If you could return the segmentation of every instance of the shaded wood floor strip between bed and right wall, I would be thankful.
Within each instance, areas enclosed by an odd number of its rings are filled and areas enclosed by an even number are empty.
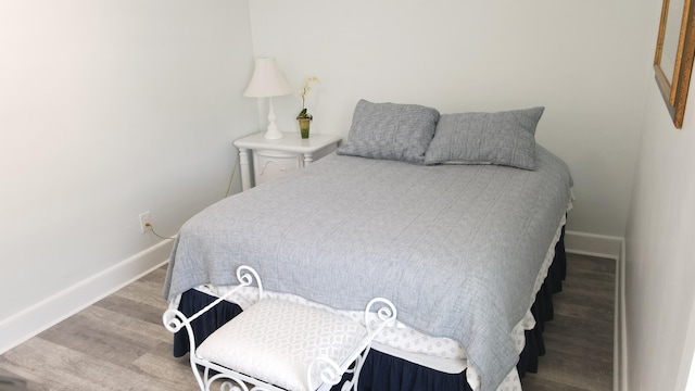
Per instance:
[[[612,390],[615,261],[568,254],[567,279],[545,324],[546,354],[525,391]]]

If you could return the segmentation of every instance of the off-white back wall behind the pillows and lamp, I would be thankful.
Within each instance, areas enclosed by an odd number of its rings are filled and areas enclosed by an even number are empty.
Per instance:
[[[538,140],[576,181],[568,228],[622,237],[653,59],[644,42],[656,38],[645,3],[254,0],[250,9],[256,55],[276,56],[296,89],[321,79],[309,96],[313,131],[346,135],[359,98],[442,113],[545,105]],[[278,124],[296,129],[299,98],[275,102]]]

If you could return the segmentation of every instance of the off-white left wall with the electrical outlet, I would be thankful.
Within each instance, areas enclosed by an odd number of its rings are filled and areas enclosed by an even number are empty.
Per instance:
[[[247,1],[3,0],[0,48],[1,325],[220,200],[257,116]]]

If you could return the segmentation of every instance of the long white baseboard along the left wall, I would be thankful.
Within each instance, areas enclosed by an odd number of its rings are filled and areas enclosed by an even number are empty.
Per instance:
[[[137,280],[168,261],[162,241],[0,321],[0,354]]]

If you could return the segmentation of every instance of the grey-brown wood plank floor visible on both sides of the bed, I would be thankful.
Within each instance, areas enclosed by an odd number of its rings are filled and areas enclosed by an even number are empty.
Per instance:
[[[522,379],[525,391],[612,389],[615,263],[568,257],[545,327],[547,353],[539,373]],[[161,323],[164,276],[156,269],[0,355],[0,374],[26,379],[28,390],[195,390]]]

